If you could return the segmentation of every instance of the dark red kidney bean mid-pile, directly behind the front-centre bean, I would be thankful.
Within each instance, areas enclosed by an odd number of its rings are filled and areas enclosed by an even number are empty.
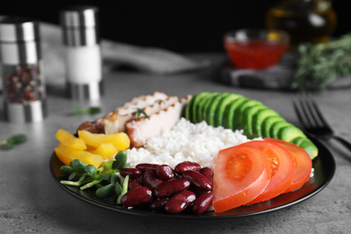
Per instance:
[[[175,193],[187,190],[190,187],[190,181],[184,178],[168,180],[158,184],[153,193],[156,197],[169,197]]]

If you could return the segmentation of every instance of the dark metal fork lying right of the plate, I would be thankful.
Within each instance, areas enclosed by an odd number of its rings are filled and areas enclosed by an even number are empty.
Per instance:
[[[351,151],[351,143],[335,135],[334,130],[320,112],[312,94],[294,95],[293,107],[307,133],[320,139],[337,139]]]

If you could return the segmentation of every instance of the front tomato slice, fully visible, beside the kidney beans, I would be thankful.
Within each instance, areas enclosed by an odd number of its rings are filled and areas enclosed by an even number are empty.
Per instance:
[[[270,166],[259,148],[238,145],[220,150],[214,166],[214,211],[252,201],[265,190],[270,177]]]

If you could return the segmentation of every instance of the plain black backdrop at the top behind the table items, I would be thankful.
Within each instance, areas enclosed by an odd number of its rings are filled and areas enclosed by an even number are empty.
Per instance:
[[[108,2],[108,3],[106,3]],[[28,16],[58,24],[67,5],[92,4],[100,10],[101,37],[175,52],[223,51],[225,31],[265,27],[265,15],[278,0],[232,1],[9,1],[0,15]],[[332,36],[351,31],[346,0],[331,1],[338,14]]]

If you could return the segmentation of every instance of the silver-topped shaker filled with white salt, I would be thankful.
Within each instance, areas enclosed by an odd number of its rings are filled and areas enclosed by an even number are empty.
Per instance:
[[[72,99],[98,100],[103,94],[98,9],[69,6],[60,13],[65,46],[67,91]]]

